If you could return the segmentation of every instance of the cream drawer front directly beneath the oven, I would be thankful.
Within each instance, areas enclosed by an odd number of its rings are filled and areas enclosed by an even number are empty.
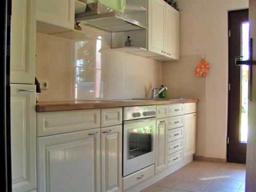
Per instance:
[[[152,176],[154,176],[155,165],[148,166],[138,172],[123,178],[123,190],[130,188]]]

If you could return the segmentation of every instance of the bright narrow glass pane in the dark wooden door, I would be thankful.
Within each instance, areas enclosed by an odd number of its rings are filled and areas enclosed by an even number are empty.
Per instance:
[[[242,56],[243,60],[249,60],[249,23],[242,24]],[[248,133],[248,86],[249,67],[241,65],[241,121],[240,142],[247,143]]]

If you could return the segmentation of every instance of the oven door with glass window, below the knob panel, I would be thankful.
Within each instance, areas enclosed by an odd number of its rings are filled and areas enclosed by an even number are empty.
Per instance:
[[[123,177],[155,163],[156,118],[123,125]]]

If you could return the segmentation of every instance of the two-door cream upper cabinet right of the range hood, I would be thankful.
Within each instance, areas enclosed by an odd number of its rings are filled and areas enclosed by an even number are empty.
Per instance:
[[[163,0],[148,1],[148,51],[156,60],[179,60],[179,11]]]

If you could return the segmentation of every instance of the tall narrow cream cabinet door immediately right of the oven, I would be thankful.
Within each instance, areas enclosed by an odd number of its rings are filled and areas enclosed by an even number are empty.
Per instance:
[[[167,167],[167,123],[167,118],[157,120],[155,165],[156,173],[161,172]]]

